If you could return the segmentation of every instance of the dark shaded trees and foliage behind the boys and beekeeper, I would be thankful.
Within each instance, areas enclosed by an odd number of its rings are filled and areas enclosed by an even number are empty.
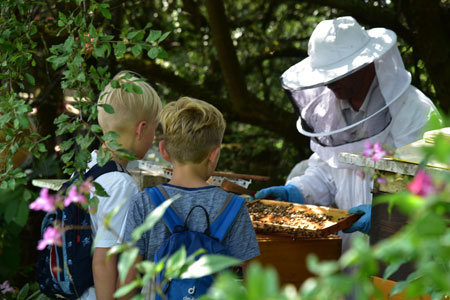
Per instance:
[[[147,56],[114,56],[87,60],[95,66],[108,65],[115,74],[138,72],[157,89],[164,102],[180,96],[205,100],[225,115],[228,127],[218,170],[267,175],[269,182],[252,184],[253,189],[283,184],[295,163],[310,155],[309,140],[296,128],[296,116],[280,87],[281,74],[307,56],[308,39],[323,19],[351,15],[366,28],[386,27],[395,31],[413,84],[445,113],[450,111],[450,1],[448,0],[142,0],[104,1],[111,20],[95,16],[96,27],[119,36],[124,27],[170,31],[161,44],[164,59]],[[61,43],[58,13],[70,15],[79,9],[65,1],[45,0],[28,16],[38,25],[36,67],[28,70],[36,79],[29,86],[37,108],[36,123],[49,151],[44,163],[35,164],[42,178],[62,176],[59,154],[54,147],[55,117],[64,111],[60,80],[64,68],[53,70],[46,59],[49,45]],[[40,216],[38,216],[40,217]],[[30,232],[39,226],[31,218],[23,232],[26,250],[21,269],[30,276],[35,240]],[[31,230],[31,231],[30,231]],[[26,240],[31,239],[32,245]],[[31,247],[31,248],[30,248]],[[28,253],[29,252],[29,253]],[[28,254],[27,254],[28,253]],[[3,253],[4,254],[4,253]],[[30,258],[31,257],[31,258]]]

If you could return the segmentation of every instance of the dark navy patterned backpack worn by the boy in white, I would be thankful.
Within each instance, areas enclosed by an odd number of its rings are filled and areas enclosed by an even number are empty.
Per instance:
[[[83,179],[93,180],[109,172],[126,172],[122,166],[109,161],[103,167],[93,166],[83,175]],[[73,176],[60,188],[66,190],[78,179]],[[42,293],[50,298],[78,299],[89,287],[94,285],[92,275],[92,229],[89,212],[70,204],[63,210],[47,213],[41,223],[41,239],[47,227],[57,220],[61,226],[76,226],[62,237],[62,247],[49,245],[38,252],[36,280]]]

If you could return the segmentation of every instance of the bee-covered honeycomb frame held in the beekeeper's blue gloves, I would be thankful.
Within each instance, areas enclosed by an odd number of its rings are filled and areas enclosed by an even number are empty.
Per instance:
[[[343,209],[274,200],[255,200],[248,211],[257,233],[325,237],[349,228],[360,215]]]

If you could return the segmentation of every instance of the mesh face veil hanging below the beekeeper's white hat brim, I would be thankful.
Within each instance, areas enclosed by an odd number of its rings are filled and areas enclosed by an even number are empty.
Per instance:
[[[298,113],[301,132],[322,146],[335,147],[375,136],[389,125],[392,116],[377,87],[375,80],[359,112],[346,100],[337,99],[327,87],[286,92]]]

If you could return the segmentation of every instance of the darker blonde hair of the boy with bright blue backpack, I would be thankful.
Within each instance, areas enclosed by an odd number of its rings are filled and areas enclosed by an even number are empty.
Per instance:
[[[222,143],[225,119],[205,101],[182,97],[167,104],[160,119],[166,150],[179,163],[200,163]]]

